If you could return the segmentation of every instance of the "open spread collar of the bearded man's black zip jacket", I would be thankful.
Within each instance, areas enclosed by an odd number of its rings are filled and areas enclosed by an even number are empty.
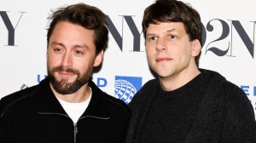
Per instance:
[[[108,108],[104,106],[105,94],[92,81],[89,81],[88,85],[92,89],[92,94],[89,106],[84,111],[82,117],[96,117],[103,119],[109,118],[110,113],[108,111]],[[61,106],[61,103],[59,102],[59,100],[56,99],[55,94],[49,87],[48,77],[46,77],[42,82],[39,83],[38,113],[67,116],[67,113]]]

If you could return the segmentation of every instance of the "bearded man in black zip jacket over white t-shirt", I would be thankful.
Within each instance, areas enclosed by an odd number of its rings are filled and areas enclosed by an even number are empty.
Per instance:
[[[106,15],[78,3],[49,19],[48,77],[0,101],[0,142],[124,142],[130,111],[90,80],[108,45]]]

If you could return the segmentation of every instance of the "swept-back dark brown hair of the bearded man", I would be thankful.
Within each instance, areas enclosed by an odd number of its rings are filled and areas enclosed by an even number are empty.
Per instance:
[[[108,47],[108,23],[106,14],[96,7],[84,3],[77,3],[66,8],[57,9],[48,19],[51,22],[47,32],[47,45],[49,45],[49,37],[54,31],[56,24],[61,21],[67,21],[95,31],[94,43],[96,45],[96,54]]]

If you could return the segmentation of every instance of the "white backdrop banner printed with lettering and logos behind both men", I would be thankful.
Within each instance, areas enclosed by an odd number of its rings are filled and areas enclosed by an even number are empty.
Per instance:
[[[201,14],[200,67],[221,73],[247,94],[256,110],[254,0],[183,0]],[[51,10],[87,3],[108,14],[109,44],[96,85],[129,103],[149,79],[141,21],[154,0],[0,0],[0,98],[47,76],[46,33]]]

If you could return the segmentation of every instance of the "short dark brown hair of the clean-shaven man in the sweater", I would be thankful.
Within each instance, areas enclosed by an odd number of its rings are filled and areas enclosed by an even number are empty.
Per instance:
[[[156,0],[148,6],[143,15],[143,35],[146,38],[149,24],[159,22],[182,22],[189,40],[198,39],[201,42],[201,17],[189,4],[177,0]],[[199,57],[195,57],[198,66]]]

